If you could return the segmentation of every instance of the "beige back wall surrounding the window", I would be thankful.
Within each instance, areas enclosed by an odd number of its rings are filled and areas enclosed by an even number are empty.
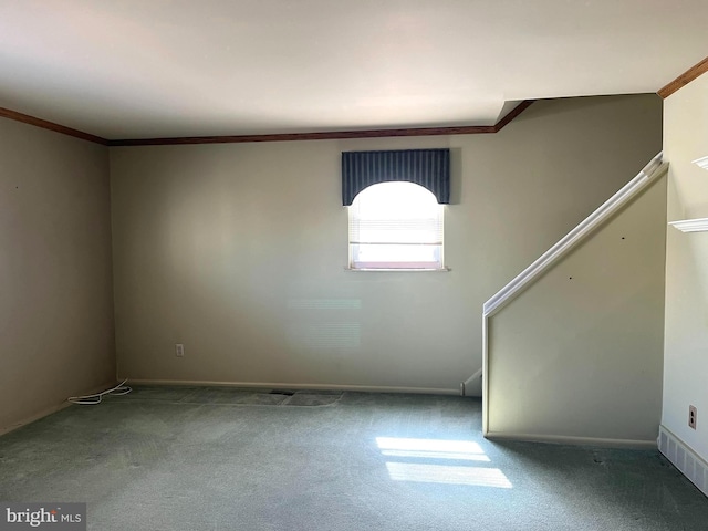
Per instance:
[[[496,135],[112,148],[118,374],[457,393],[482,303],[636,175],[660,121],[612,96]],[[420,147],[452,149],[451,271],[345,271],[340,153]]]

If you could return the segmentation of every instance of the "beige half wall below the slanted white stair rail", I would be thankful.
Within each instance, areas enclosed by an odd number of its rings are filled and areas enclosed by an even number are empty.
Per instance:
[[[666,178],[489,321],[490,437],[656,444]]]

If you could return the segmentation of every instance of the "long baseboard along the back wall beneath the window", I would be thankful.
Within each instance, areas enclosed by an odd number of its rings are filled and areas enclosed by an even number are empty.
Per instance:
[[[121,382],[125,376],[118,378]],[[133,379],[127,385],[204,385],[220,387],[246,387],[250,389],[311,389],[311,391],[362,391],[367,393],[414,393],[419,395],[459,395],[459,389],[439,387],[394,387],[381,385],[340,385],[340,384],[289,384],[273,382],[212,382],[204,379]]]

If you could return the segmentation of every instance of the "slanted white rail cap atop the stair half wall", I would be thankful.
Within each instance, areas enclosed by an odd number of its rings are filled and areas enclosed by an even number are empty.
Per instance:
[[[587,216],[587,218],[585,218],[577,227],[565,235],[565,237],[563,237],[558,243],[541,254],[535,262],[521,271],[511,282],[489,299],[483,305],[483,314],[489,316],[498,311],[510,299],[523,290],[529,282],[543,273],[553,262],[555,262],[555,260],[575,247],[575,244],[592,232],[595,227],[612,216],[632,197],[641,191],[654,179],[654,177],[663,175],[664,170],[668,167],[666,163],[662,162],[663,153],[664,152],[659,152],[658,155],[656,155],[634,179],[623,186],[620,191],[607,199],[600,208],[597,208],[597,210]]]

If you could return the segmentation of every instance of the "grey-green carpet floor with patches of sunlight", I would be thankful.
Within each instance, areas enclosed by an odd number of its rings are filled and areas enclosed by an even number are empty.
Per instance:
[[[0,437],[0,500],[88,529],[707,530],[657,451],[494,444],[456,396],[140,387]]]

